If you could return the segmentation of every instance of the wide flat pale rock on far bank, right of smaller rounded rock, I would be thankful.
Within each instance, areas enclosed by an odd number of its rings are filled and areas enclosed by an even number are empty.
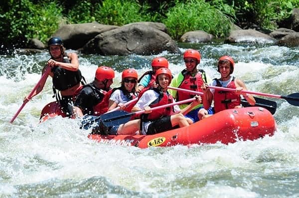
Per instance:
[[[277,40],[271,36],[256,30],[235,30],[231,31],[226,40],[227,43],[276,43]]]

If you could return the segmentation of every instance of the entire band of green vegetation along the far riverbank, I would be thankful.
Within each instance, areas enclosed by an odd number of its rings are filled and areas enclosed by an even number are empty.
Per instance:
[[[224,37],[231,23],[274,30],[294,7],[298,0],[3,0],[0,44],[22,47],[32,38],[45,43],[63,24],[93,21],[119,26],[162,22],[173,39],[193,30]]]

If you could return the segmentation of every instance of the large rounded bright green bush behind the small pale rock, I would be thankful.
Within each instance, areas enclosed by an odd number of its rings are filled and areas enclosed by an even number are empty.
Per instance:
[[[187,0],[169,9],[164,23],[170,36],[175,39],[195,30],[220,37],[229,34],[231,19],[204,0]]]

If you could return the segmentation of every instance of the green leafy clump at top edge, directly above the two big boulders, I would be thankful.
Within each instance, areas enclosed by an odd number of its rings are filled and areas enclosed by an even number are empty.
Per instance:
[[[149,21],[149,6],[141,6],[135,0],[104,0],[95,5],[94,17],[97,22],[109,25],[124,25],[137,21]]]

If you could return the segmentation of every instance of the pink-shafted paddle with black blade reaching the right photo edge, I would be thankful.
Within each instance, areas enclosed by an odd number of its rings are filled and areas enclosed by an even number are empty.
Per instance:
[[[223,91],[236,91],[236,89],[226,88],[226,87],[209,86],[209,88],[223,90]],[[250,94],[254,94],[254,95],[260,95],[260,96],[268,96],[268,97],[272,97],[272,98],[282,98],[282,99],[287,100],[287,102],[291,105],[299,106],[299,93],[292,93],[288,96],[281,96],[281,95],[275,95],[275,94],[270,94],[270,93],[261,93],[261,92],[248,91],[248,90],[244,90],[244,91],[242,90],[242,92],[250,93]]]

